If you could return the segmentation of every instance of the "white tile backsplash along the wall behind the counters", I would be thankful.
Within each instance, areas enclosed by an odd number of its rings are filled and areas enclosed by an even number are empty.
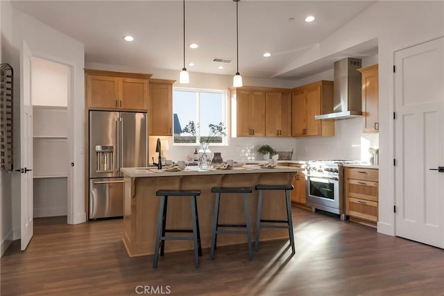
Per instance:
[[[336,121],[334,137],[309,138],[275,138],[275,137],[237,137],[229,138],[228,146],[210,146],[212,153],[220,152],[223,160],[234,159],[240,161],[262,160],[257,154],[257,148],[268,144],[277,151],[293,150],[294,160],[309,159],[353,159],[368,162],[370,153],[368,148],[378,147],[378,134],[362,133],[362,118]],[[162,142],[162,156],[173,161],[185,160],[192,157],[198,146],[174,146],[172,137],[160,137]],[[154,157],[157,137],[149,137],[149,162]]]

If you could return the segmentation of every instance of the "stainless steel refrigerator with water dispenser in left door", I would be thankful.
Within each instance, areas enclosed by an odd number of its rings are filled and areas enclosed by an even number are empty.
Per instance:
[[[147,166],[146,113],[89,112],[89,218],[123,216],[122,167]]]

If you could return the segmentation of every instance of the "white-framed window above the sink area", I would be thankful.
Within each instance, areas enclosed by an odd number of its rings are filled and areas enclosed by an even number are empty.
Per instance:
[[[226,125],[227,92],[210,89],[173,88],[173,143],[199,144],[193,134],[182,129],[193,121],[201,139],[210,136],[210,124]],[[225,134],[228,129],[225,130]],[[226,145],[226,136],[215,137],[212,145]]]

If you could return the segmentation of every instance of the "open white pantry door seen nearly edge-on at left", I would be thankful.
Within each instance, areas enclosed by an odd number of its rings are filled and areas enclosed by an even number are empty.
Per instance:
[[[33,105],[31,103],[31,51],[22,44],[20,72],[20,207],[21,248],[33,237]]]

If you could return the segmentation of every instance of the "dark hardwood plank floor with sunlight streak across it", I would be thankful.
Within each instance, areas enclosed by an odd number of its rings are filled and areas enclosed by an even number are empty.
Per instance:
[[[122,223],[35,219],[28,249],[15,241],[1,258],[1,295],[444,295],[444,250],[302,209],[296,255],[288,241],[261,243],[253,261],[246,245],[218,247],[199,269],[192,251],[157,270],[153,256],[129,258]]]

